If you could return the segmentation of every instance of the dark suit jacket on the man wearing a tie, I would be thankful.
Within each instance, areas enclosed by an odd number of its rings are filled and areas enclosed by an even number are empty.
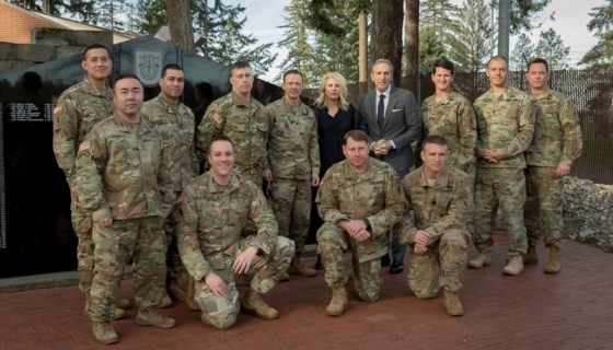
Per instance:
[[[358,107],[358,122],[369,136],[369,143],[380,139],[394,141],[395,149],[379,156],[403,178],[415,163],[410,143],[421,137],[421,118],[413,93],[392,86],[390,101],[385,109],[383,130],[377,122],[375,90],[366,93]],[[374,155],[374,153],[371,153]]]

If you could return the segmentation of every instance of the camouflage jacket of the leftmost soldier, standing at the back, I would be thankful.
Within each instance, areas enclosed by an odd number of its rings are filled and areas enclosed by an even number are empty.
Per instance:
[[[79,144],[99,121],[115,110],[113,90],[97,89],[88,78],[59,95],[54,109],[54,153],[68,185],[76,184]]]

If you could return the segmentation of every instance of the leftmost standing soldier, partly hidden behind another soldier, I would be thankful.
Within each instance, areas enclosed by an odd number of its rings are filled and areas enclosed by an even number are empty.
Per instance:
[[[83,51],[81,67],[86,71],[85,79],[62,92],[54,109],[54,153],[70,187],[72,228],[78,238],[79,289],[85,293],[84,313],[86,314],[94,271],[94,244],[92,215],[78,200],[77,150],[94,125],[109,117],[115,108],[113,91],[106,85],[106,78],[113,68],[106,46],[100,44],[88,46]],[[122,299],[117,301],[117,305],[128,307],[129,302]],[[124,314],[122,308],[117,308],[114,317],[119,319]]]

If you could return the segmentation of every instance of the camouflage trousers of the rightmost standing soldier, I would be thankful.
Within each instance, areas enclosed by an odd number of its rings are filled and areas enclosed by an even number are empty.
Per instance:
[[[528,244],[536,245],[541,233],[547,246],[562,246],[562,178],[555,167],[528,166],[525,170],[525,206],[523,220]]]

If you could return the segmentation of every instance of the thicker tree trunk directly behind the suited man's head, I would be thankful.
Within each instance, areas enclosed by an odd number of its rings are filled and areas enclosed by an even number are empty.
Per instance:
[[[394,81],[402,75],[403,0],[372,1],[373,59],[386,58],[394,66]]]

